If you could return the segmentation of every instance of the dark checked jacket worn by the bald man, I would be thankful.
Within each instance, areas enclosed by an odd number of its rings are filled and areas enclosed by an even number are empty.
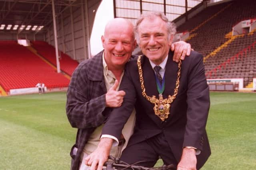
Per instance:
[[[72,147],[72,170],[78,170],[80,155],[92,132],[102,125],[110,112],[106,107],[107,92],[103,75],[102,53],[78,65],[67,92],[66,114],[72,127],[78,128]],[[78,148],[73,154],[74,147]]]

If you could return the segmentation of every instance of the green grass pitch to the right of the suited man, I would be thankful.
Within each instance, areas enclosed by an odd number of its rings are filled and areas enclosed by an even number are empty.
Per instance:
[[[256,167],[256,94],[212,92],[207,132],[212,155],[202,170]]]

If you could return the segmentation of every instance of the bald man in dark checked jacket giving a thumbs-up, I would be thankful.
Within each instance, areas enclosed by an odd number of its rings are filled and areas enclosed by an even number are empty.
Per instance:
[[[118,91],[126,63],[134,58],[136,47],[134,25],[124,18],[109,21],[102,35],[104,50],[83,61],[74,71],[67,92],[66,114],[72,127],[78,129],[76,143],[72,147],[72,170],[86,169],[84,158],[93,152],[100,141],[102,125],[112,108],[120,107],[125,95]],[[174,61],[190,54],[190,44],[178,42],[172,45]],[[120,156],[133,133],[134,111],[122,130],[122,141],[111,149],[112,156]]]

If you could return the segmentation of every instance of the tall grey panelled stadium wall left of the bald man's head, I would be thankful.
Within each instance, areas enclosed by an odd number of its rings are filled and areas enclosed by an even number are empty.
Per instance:
[[[56,18],[58,48],[81,62],[90,58],[90,34],[101,0],[78,0]],[[46,42],[55,46],[53,25],[47,30]]]

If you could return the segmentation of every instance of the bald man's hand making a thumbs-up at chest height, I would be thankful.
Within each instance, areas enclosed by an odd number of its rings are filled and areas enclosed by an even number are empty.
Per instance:
[[[116,91],[119,85],[118,80],[106,93],[106,107],[120,107],[122,105],[125,92],[123,90]]]

